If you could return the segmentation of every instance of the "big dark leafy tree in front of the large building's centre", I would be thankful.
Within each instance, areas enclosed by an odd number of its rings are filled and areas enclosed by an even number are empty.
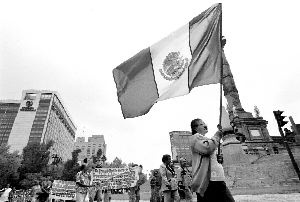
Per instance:
[[[53,141],[47,143],[31,143],[23,149],[23,160],[21,162],[20,185],[30,188],[40,176],[47,175],[47,166],[50,160],[50,148]]]

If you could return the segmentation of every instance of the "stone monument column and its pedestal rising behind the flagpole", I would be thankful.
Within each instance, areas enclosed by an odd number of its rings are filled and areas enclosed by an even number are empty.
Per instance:
[[[226,40],[222,39],[222,48],[225,44]],[[226,158],[229,158],[231,163],[249,162],[245,160],[247,158],[245,153],[273,153],[272,138],[267,130],[268,122],[262,117],[253,117],[250,112],[243,109],[224,51],[222,51],[222,59],[222,87],[227,100],[229,122],[233,127],[233,131],[227,132],[227,135],[223,138],[224,163]],[[230,157],[226,157],[228,155]]]

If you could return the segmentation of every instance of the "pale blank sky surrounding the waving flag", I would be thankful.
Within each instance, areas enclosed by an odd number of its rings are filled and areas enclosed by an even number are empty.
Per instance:
[[[123,119],[112,70],[219,2],[242,106],[254,115],[256,105],[270,135],[279,135],[273,110],[300,123],[297,1],[0,1],[0,99],[20,99],[25,89],[57,91],[77,137],[104,135],[108,161],[158,168],[171,154],[170,131],[190,130],[194,118],[207,123],[208,136],[216,131],[219,85]]]

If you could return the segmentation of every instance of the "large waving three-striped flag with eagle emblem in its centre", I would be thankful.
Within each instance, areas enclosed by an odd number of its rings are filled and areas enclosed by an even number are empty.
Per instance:
[[[113,70],[124,118],[148,113],[158,101],[220,82],[221,4]]]

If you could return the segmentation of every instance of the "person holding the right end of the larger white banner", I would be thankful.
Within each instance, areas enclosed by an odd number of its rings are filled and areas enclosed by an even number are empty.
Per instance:
[[[137,164],[133,164],[132,167],[138,166]],[[129,202],[139,202],[140,195],[140,186],[146,182],[146,175],[143,173],[143,166],[138,166],[138,175],[139,179],[134,187],[130,187],[128,190]]]

